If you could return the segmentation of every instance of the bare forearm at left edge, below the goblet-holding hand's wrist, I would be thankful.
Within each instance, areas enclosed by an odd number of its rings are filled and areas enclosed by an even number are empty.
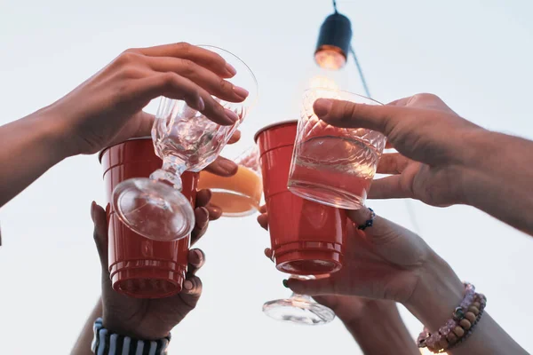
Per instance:
[[[66,155],[48,108],[0,127],[0,137],[2,207]]]

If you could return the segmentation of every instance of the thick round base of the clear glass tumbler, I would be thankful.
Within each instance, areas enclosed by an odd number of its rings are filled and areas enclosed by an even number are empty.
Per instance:
[[[289,180],[287,188],[295,195],[322,205],[336,207],[338,209],[362,209],[365,196],[348,193],[328,185],[315,184],[309,181]]]

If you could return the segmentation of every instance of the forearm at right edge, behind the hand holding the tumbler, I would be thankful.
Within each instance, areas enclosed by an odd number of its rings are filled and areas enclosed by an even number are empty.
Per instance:
[[[465,148],[465,204],[533,235],[533,142],[480,131]]]

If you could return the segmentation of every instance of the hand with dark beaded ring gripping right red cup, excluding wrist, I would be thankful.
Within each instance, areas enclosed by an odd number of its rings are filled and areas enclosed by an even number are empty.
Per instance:
[[[266,206],[258,217],[259,225],[268,228]],[[400,225],[376,217],[365,232],[363,225],[370,210],[363,208],[347,212],[354,223],[348,225],[345,263],[338,272],[316,280],[290,279],[288,285],[301,295],[349,295],[396,302],[409,300],[429,255],[433,252],[425,241]],[[272,258],[272,250],[265,249]]]

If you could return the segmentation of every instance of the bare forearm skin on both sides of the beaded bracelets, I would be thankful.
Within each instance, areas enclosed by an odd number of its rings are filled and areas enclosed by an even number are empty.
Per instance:
[[[405,304],[429,330],[438,331],[451,318],[461,303],[464,285],[446,262],[439,256],[431,256],[426,272],[420,276],[410,300]],[[449,354],[528,354],[499,327],[487,312],[464,343],[448,350]]]

